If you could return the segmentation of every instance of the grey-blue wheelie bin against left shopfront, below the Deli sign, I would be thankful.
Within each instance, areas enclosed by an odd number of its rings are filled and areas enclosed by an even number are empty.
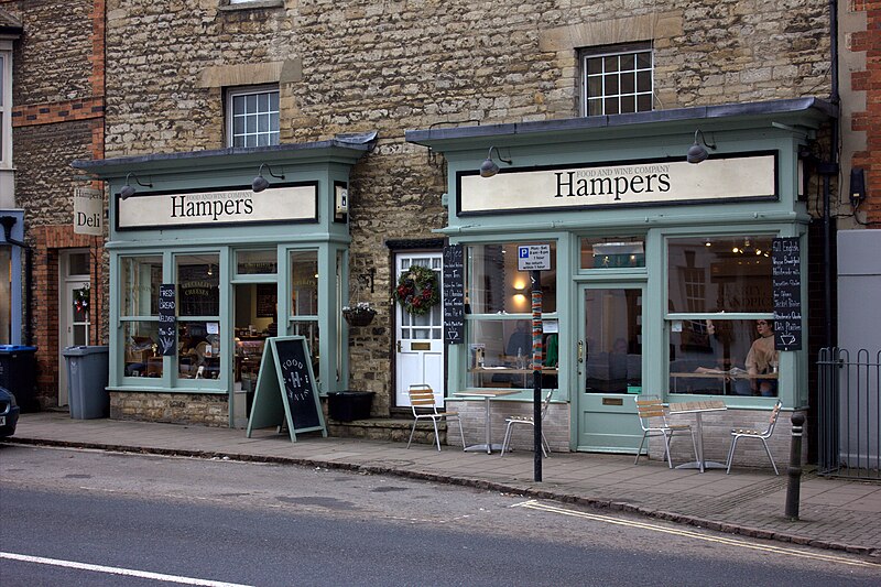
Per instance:
[[[67,402],[70,417],[94,420],[110,414],[107,347],[67,347],[62,351],[67,363]]]

